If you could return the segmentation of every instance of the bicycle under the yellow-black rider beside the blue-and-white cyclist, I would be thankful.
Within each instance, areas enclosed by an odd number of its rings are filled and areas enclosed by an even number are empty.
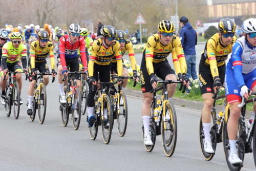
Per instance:
[[[223,87],[225,88],[225,87]],[[216,115],[216,101],[226,98],[226,94],[223,94],[219,97],[217,97],[219,94],[219,88],[217,89],[217,92],[215,93],[214,96],[212,96],[212,98],[214,99],[214,105],[212,105],[211,108],[211,129],[210,129],[210,138],[211,138],[211,143],[212,143],[212,148],[214,149],[214,153],[206,153],[204,151],[204,131],[203,131],[203,123],[202,123],[202,114],[200,117],[200,125],[199,125],[199,138],[200,138],[200,146],[201,146],[201,151],[202,154],[205,158],[205,160],[210,161],[214,155],[215,155],[215,151],[216,151],[216,146],[217,143],[222,142],[222,129],[223,129],[223,121],[225,118],[225,111],[223,112],[223,116],[220,119],[220,123],[218,124],[218,118]]]

